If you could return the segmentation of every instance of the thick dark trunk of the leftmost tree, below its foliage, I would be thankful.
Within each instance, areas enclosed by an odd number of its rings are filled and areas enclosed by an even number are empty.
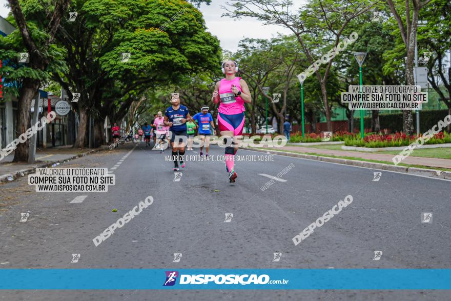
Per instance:
[[[39,81],[31,78],[24,78],[22,89],[19,93],[17,105],[17,121],[15,137],[25,133],[30,127],[31,99],[38,92]],[[37,97],[39,100],[39,95]],[[28,161],[29,143],[19,143],[14,151],[13,162]]]

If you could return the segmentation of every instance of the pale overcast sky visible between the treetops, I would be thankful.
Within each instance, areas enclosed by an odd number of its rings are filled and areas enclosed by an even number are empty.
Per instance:
[[[261,22],[254,18],[243,18],[236,21],[229,17],[221,18],[221,14],[226,12],[221,6],[226,6],[226,2],[226,0],[212,0],[210,5],[202,4],[200,6],[208,30],[219,38],[223,49],[235,52],[238,48],[238,42],[244,37],[268,39],[276,36],[277,32],[291,33],[288,29],[280,26],[263,26]],[[5,7],[6,3],[6,0],[0,0],[0,15],[2,17],[6,17],[9,13],[9,9]],[[293,3],[292,10],[297,11],[301,4],[305,3],[305,0],[293,0]]]

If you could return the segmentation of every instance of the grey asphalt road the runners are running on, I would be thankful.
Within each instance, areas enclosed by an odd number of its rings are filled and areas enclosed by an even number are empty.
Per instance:
[[[211,156],[222,154],[221,148],[210,150]],[[451,268],[449,181],[381,171],[374,182],[378,170],[239,150],[255,157],[236,162],[234,184],[216,157],[192,157],[197,160],[188,161],[174,182],[168,155],[170,150],[160,154],[129,143],[58,166],[109,168],[116,185],[107,193],[36,193],[26,177],[0,185],[0,269]],[[257,156],[273,160],[252,160]],[[292,169],[260,189],[287,166]],[[71,203],[80,195],[86,197]],[[95,236],[149,195],[151,206],[94,246]],[[296,234],[346,195],[353,196],[351,205],[294,245]],[[23,212],[27,222],[20,222]],[[433,213],[432,223],[421,223],[423,212]],[[232,220],[224,223],[228,213]],[[373,260],[374,251],[382,251],[380,260]],[[282,253],[279,262],[272,262],[274,252]],[[72,253],[80,254],[77,263],[71,263]],[[173,262],[174,253],[182,253],[180,262]],[[0,299],[444,300],[451,293],[0,291]]]

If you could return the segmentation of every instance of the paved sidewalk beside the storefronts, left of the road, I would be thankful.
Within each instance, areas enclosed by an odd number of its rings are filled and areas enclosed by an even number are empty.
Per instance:
[[[26,162],[13,163],[14,152],[0,161],[0,183],[8,182],[19,176],[24,176],[38,167],[51,166],[52,164],[64,162],[77,157],[86,156],[92,152],[108,149],[108,146],[102,146],[96,149],[73,149],[71,146],[53,147],[36,150],[36,159],[34,164]],[[11,179],[12,178],[12,179]]]

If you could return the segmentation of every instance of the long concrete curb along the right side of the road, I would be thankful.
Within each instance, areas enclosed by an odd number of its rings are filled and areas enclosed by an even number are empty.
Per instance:
[[[406,167],[406,166],[396,166],[396,165],[388,165],[388,164],[382,164],[382,163],[373,163],[373,162],[349,160],[349,159],[341,159],[341,158],[333,158],[333,157],[322,157],[322,156],[307,155],[307,154],[297,154],[297,153],[284,152],[284,151],[253,149],[253,148],[246,148],[246,147],[240,147],[240,149],[251,150],[251,151],[262,152],[262,153],[270,153],[270,154],[275,154],[275,155],[283,155],[283,156],[289,156],[289,157],[297,157],[297,158],[303,158],[303,159],[318,160],[318,161],[322,161],[322,162],[331,162],[331,163],[358,166],[358,167],[382,169],[382,170],[395,171],[395,172],[401,172],[401,173],[412,174],[412,175],[420,175],[420,176],[426,176],[426,177],[432,177],[432,178],[451,180],[451,172],[450,171],[441,171],[441,170],[435,170],[435,169],[425,169],[425,168]]]

